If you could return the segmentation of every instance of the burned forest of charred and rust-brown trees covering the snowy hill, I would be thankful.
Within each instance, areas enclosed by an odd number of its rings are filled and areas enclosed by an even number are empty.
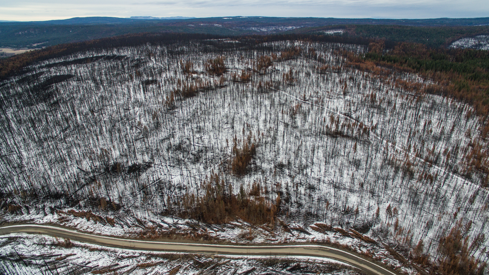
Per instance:
[[[2,222],[309,242],[400,274],[486,272],[489,96],[477,79],[400,66],[386,56],[413,46],[375,41],[109,44],[0,81]]]

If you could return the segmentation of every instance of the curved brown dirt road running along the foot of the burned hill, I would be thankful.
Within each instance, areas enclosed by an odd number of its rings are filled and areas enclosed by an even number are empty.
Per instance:
[[[10,233],[44,234],[53,237],[69,238],[74,241],[91,243],[113,248],[162,251],[208,253],[220,255],[250,255],[250,256],[310,256],[334,259],[356,267],[367,274],[397,275],[371,261],[352,253],[319,245],[212,245],[196,243],[170,243],[158,241],[143,241],[124,238],[114,238],[102,235],[92,235],[80,231],[44,225],[15,225],[0,227],[0,235]]]

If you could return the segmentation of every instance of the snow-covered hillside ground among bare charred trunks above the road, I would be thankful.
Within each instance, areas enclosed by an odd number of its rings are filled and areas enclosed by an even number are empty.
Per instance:
[[[458,219],[471,222],[472,238],[488,231],[487,178],[469,156],[474,148],[487,150],[488,141],[479,135],[484,121],[471,106],[413,90],[433,84],[418,75],[347,67],[339,51],[362,52],[362,46],[273,42],[248,49],[219,43],[77,53],[0,83],[1,203],[12,210],[2,219],[55,221],[114,235],[153,234],[148,228],[155,226],[162,236],[334,238],[359,247],[356,239],[310,227],[324,223],[356,229],[405,254],[422,239],[424,252],[435,256],[438,240]],[[232,81],[232,73],[252,69],[259,56],[280,56],[295,46],[302,48],[297,58],[275,60],[249,83]],[[308,55],[311,48],[317,60]],[[220,55],[228,68],[225,86],[203,69]],[[87,59],[93,56],[103,58]],[[185,75],[180,60],[192,61],[196,73]],[[55,75],[72,77],[45,88],[42,83]],[[171,102],[178,82],[200,80],[212,89]],[[257,154],[250,173],[237,177],[229,171],[233,139],[240,146],[247,137],[255,140]],[[198,226],[196,233],[196,221],[168,216],[178,215],[184,194],[202,192],[200,183],[212,173],[234,194],[253,183],[270,202],[280,194],[278,218],[311,235],[292,236],[278,224],[270,233],[243,221]],[[22,214],[8,205],[20,206]],[[116,224],[97,224],[96,217],[83,222],[64,214],[69,209],[91,210]],[[486,260],[489,240],[475,245],[474,255]]]

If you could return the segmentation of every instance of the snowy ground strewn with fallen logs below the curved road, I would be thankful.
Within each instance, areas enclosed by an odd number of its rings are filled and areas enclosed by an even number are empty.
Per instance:
[[[2,274],[361,274],[334,260],[314,257],[244,257],[139,252],[53,237],[0,237]]]

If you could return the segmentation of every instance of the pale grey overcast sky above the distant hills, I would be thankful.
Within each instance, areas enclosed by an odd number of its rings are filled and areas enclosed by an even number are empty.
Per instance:
[[[0,0],[0,20],[88,16],[489,17],[489,0]]]

